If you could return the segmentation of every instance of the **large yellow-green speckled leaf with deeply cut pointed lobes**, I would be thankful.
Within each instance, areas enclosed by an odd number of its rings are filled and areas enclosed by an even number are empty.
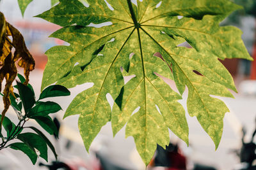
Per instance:
[[[88,4],[60,0],[37,16],[63,26],[51,37],[70,43],[46,52],[49,60],[42,89],[52,83],[72,88],[93,82],[65,113],[65,117],[80,115],[78,125],[86,149],[109,121],[114,134],[127,124],[125,134],[133,136],[145,164],[157,144],[169,144],[168,129],[188,143],[185,111],[178,103],[186,87],[189,115],[196,116],[217,148],[228,108],[211,95],[233,97],[228,89],[236,91],[232,76],[218,59],[252,60],[242,32],[219,26],[241,7],[227,0],[143,0],[137,4],[90,0]],[[184,42],[193,48],[180,46]],[[124,82],[125,76],[133,78]],[[179,93],[163,77],[175,81]],[[107,94],[115,100],[112,110]]]

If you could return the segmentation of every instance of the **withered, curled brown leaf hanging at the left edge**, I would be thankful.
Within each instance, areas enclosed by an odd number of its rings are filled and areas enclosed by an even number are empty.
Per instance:
[[[12,36],[12,41],[8,38]],[[15,48],[14,54],[12,48]],[[10,94],[13,95],[12,83],[17,76],[17,67],[15,62],[19,60],[18,65],[24,68],[26,81],[28,85],[29,72],[35,69],[35,60],[26,47],[24,38],[20,32],[11,24],[6,22],[3,13],[0,12],[0,92],[1,85],[5,78],[6,84],[3,91],[4,110],[1,113],[1,127],[6,111],[8,110],[11,101]],[[14,95],[13,95],[14,96]],[[1,129],[0,127],[0,129]]]

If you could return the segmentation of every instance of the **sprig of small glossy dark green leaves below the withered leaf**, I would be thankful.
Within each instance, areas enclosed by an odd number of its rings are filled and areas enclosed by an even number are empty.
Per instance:
[[[21,82],[25,81],[25,78],[18,74],[19,80]],[[37,155],[42,157],[47,161],[47,146],[51,148],[52,153],[54,153],[55,158],[57,159],[57,154],[52,145],[51,141],[47,139],[47,137],[40,130],[36,129],[36,127],[25,127],[25,123],[30,119],[36,120],[36,122],[49,134],[55,134],[58,136],[58,129],[54,124],[51,117],[49,117],[50,113],[56,113],[61,110],[59,104],[46,101],[42,102],[41,99],[46,97],[58,97],[58,96],[68,96],[70,92],[63,86],[60,85],[52,85],[47,87],[41,94],[38,101],[35,101],[35,93],[33,87],[31,85],[24,85],[17,81],[17,85],[14,86],[18,89],[19,94],[15,94],[16,99],[20,99],[20,103],[18,104],[15,97],[11,96],[11,103],[13,109],[16,111],[19,123],[17,125],[13,124],[13,122],[5,117],[3,120],[3,127],[6,133],[1,133],[2,143],[0,143],[0,150],[3,148],[10,147],[14,150],[20,150],[28,155],[29,159],[33,164],[36,163]],[[2,94],[3,96],[3,94]],[[22,106],[24,108],[24,112],[22,113]],[[0,115],[1,118],[1,115]],[[31,129],[33,132],[22,132],[23,129]],[[12,143],[8,145],[10,141],[13,139],[19,139],[22,143]],[[39,152],[36,152],[36,150]]]

